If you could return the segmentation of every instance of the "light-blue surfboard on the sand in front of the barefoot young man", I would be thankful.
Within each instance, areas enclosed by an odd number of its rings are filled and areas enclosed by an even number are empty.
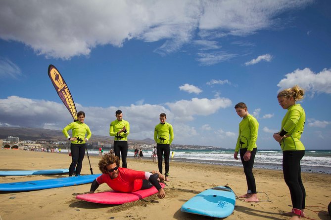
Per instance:
[[[187,201],[181,208],[182,212],[225,218],[232,214],[236,205],[236,195],[227,186],[217,186],[200,192]]]

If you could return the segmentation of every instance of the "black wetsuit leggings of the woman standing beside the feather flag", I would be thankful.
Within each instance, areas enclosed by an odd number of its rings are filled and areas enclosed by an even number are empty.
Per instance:
[[[85,150],[86,150],[85,144],[80,144],[80,145],[72,144],[72,143],[70,144],[72,162],[69,167],[69,176],[72,176],[72,174],[75,171],[75,168],[76,168],[76,175],[81,174],[83,159],[85,156]]]

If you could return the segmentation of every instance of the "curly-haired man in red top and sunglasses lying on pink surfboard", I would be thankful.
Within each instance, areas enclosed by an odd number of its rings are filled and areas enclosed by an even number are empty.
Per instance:
[[[107,183],[110,188],[118,192],[135,192],[140,189],[148,189],[153,185],[159,191],[157,196],[160,199],[165,197],[165,192],[158,179],[164,181],[164,177],[158,171],[144,172],[120,167],[120,160],[117,156],[106,154],[99,161],[99,169],[102,173],[97,177],[89,193],[94,193],[102,183]]]

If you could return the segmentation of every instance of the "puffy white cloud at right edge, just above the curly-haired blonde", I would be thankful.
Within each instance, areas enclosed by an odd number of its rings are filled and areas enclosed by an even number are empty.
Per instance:
[[[277,86],[280,90],[299,85],[306,92],[331,94],[331,69],[324,69],[320,73],[314,73],[309,68],[295,70],[287,73],[286,78],[282,79]]]

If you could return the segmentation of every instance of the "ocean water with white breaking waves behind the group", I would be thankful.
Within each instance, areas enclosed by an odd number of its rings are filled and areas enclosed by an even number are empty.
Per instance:
[[[228,166],[242,166],[241,161],[233,157],[234,150],[174,150],[176,161],[195,163],[219,164]],[[90,150],[89,150],[90,153]],[[92,150],[97,155],[98,151]],[[144,159],[151,158],[151,149],[143,150]],[[170,152],[171,155],[171,152]],[[134,156],[134,150],[129,150],[129,157]],[[282,150],[257,150],[254,168],[282,170]],[[331,150],[306,150],[301,160],[301,171],[331,174]]]

